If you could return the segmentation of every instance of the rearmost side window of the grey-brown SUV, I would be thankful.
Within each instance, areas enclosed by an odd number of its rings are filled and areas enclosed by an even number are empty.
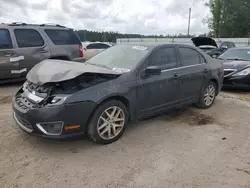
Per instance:
[[[80,44],[73,30],[45,29],[45,32],[55,45]]]

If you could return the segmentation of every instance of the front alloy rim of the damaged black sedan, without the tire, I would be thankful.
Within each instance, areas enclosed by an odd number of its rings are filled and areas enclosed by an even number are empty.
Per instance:
[[[107,108],[99,117],[97,132],[102,139],[111,140],[119,135],[124,124],[124,111],[117,106],[112,106]]]

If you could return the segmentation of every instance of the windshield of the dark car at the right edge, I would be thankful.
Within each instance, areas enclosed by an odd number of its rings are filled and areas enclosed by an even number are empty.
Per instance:
[[[250,60],[250,49],[232,48],[221,54],[219,59],[225,60]]]

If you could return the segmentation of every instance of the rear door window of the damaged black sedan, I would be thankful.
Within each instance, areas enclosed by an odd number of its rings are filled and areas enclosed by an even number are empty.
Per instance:
[[[196,50],[180,47],[179,52],[182,66],[197,65],[201,63],[201,55]]]

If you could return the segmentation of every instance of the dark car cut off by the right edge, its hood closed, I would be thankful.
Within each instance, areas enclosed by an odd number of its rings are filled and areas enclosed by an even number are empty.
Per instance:
[[[224,62],[224,87],[250,88],[250,48],[228,49],[218,59]]]

